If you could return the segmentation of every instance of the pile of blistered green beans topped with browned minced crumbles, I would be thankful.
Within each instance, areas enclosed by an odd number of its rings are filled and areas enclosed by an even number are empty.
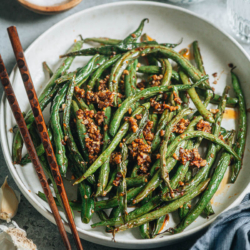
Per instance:
[[[231,72],[236,97],[228,96],[228,87],[221,96],[214,93],[198,42],[192,44],[192,64],[176,51],[181,42],[159,44],[142,35],[146,21],[123,40],[81,39],[61,56],[66,59],[55,73],[44,63],[51,78],[39,97],[42,110],[51,104],[47,127],[61,174],[71,174],[72,184],[77,185],[72,210],[80,212],[85,224],[96,213],[100,221],[91,227],[104,226],[113,235],[139,227],[143,239],[161,233],[170,212],[179,210],[180,217],[170,233],[183,231],[201,213],[214,213],[210,200],[230,162],[231,181],[239,174],[247,128],[236,74]],[[98,47],[81,49],[85,42]],[[83,67],[66,72],[76,56],[92,57]],[[217,108],[207,108],[210,103]],[[221,127],[226,107],[239,108],[237,134]],[[33,121],[29,111],[26,123],[51,179]],[[204,159],[197,153],[203,140],[207,141]],[[19,131],[12,148],[13,162],[30,162],[27,154],[21,157]],[[43,193],[38,196],[46,200]],[[197,202],[191,207],[194,198]],[[110,215],[105,209],[112,209]]]

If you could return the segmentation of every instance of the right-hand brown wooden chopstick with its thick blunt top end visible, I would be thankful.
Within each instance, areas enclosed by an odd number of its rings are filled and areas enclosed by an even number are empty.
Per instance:
[[[17,66],[20,70],[22,80],[23,80],[23,83],[24,83],[24,86],[25,86],[25,89],[26,89],[26,92],[27,92],[27,95],[29,98],[29,102],[30,102],[30,105],[31,105],[31,108],[32,108],[32,111],[33,111],[33,114],[35,117],[36,125],[37,125],[38,131],[40,133],[40,137],[41,137],[41,140],[42,140],[42,143],[43,143],[46,155],[47,155],[47,159],[48,159],[48,162],[49,162],[49,165],[51,168],[51,172],[52,172],[52,175],[53,175],[54,180],[56,182],[60,197],[62,199],[64,211],[66,213],[71,232],[74,236],[74,240],[75,240],[77,249],[83,250],[80,237],[79,237],[78,232],[76,230],[74,218],[73,218],[73,215],[71,213],[67,194],[65,192],[65,188],[63,185],[63,180],[62,180],[62,177],[61,177],[61,174],[59,171],[59,167],[57,165],[54,150],[53,150],[51,141],[49,139],[47,127],[46,127],[46,124],[44,122],[43,114],[42,114],[42,111],[41,111],[41,108],[39,105],[36,91],[35,91],[31,76],[30,76],[28,65],[27,65],[25,57],[24,57],[24,52],[23,52],[21,42],[19,40],[17,29],[15,26],[11,26],[7,30],[8,30],[11,44],[13,47],[13,51],[14,51],[14,54],[16,57]]]

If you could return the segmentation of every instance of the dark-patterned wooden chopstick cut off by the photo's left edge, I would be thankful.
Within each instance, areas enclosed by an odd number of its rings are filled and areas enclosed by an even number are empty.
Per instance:
[[[57,209],[54,197],[51,193],[51,190],[50,190],[49,184],[47,182],[47,178],[44,174],[43,168],[42,168],[40,161],[38,159],[34,144],[33,144],[32,139],[30,137],[25,120],[23,118],[22,111],[21,111],[19,104],[17,102],[14,90],[11,86],[9,76],[8,76],[7,71],[6,71],[6,68],[5,68],[5,65],[4,65],[4,62],[2,60],[1,55],[0,55],[0,78],[1,78],[1,82],[3,85],[7,100],[10,104],[11,110],[13,112],[15,119],[16,119],[17,125],[18,125],[19,130],[21,132],[21,135],[23,137],[24,143],[25,143],[26,148],[29,152],[30,159],[31,159],[33,165],[35,166],[35,170],[36,170],[37,176],[39,178],[39,181],[41,183],[41,186],[43,188],[43,192],[46,195],[49,206],[50,206],[51,211],[54,215],[54,218],[55,218],[56,224],[58,226],[59,232],[62,236],[64,245],[65,245],[66,249],[71,249],[69,239],[68,239],[67,233],[65,231],[61,216],[60,216],[59,211]]]

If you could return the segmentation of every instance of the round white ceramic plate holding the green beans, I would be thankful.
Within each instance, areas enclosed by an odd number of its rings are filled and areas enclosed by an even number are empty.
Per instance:
[[[158,42],[177,42],[183,37],[183,43],[177,48],[179,50],[187,47],[194,40],[199,41],[207,73],[211,76],[214,72],[218,72],[218,75],[220,75],[217,85],[214,85],[217,93],[222,92],[225,84],[231,84],[228,63],[232,62],[237,65],[235,72],[240,77],[245,95],[250,94],[248,83],[250,79],[249,58],[234,39],[228,37],[211,23],[181,8],[155,2],[137,1],[107,4],[81,11],[61,21],[40,36],[25,53],[37,92],[41,92],[42,86],[47,81],[42,62],[47,61],[55,69],[58,65],[58,56],[68,50],[77,35],[82,34],[84,37],[107,36],[122,39],[133,31],[145,17],[149,18],[150,22],[145,25],[144,31]],[[83,65],[83,61],[86,62],[86,60],[87,58],[83,57],[76,58],[72,68]],[[29,107],[28,99],[20,74],[16,69],[13,70],[11,79],[22,110],[27,110]],[[211,81],[212,79],[211,76]],[[249,99],[246,101],[247,107],[250,107]],[[36,196],[36,193],[42,189],[32,165],[21,167],[12,164],[13,134],[8,130],[15,124],[15,121],[4,97],[1,104],[1,143],[9,170],[30,203],[43,216],[54,223],[53,216],[48,212],[48,205]],[[223,126],[228,129],[234,128],[235,120],[225,119]],[[216,214],[209,219],[199,217],[183,233],[177,235],[141,240],[138,229],[133,229],[118,233],[116,242],[113,242],[111,235],[104,232],[104,228],[91,229],[89,225],[82,224],[79,213],[76,212],[75,221],[80,236],[88,241],[106,246],[152,248],[171,244],[198,232],[211,223],[219,213],[239,204],[246,194],[250,181],[250,168],[246,164],[250,161],[249,140],[248,137],[244,165],[237,182],[231,185],[226,183],[227,177],[224,179],[224,185],[220,187],[213,201]],[[94,216],[92,222],[97,221],[98,218]],[[173,226],[176,222],[178,222],[176,217],[171,217],[168,226]]]

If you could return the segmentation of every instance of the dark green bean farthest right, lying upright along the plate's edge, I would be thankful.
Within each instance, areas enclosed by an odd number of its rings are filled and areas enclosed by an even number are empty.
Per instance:
[[[235,152],[241,158],[240,161],[235,162],[232,165],[232,174],[231,174],[231,182],[235,182],[242,165],[242,157],[245,150],[246,144],[246,133],[247,133],[247,111],[246,111],[246,102],[243,95],[243,91],[240,86],[240,82],[236,74],[231,72],[232,84],[234,88],[234,92],[239,99],[239,129],[236,138],[236,144],[234,146]]]

